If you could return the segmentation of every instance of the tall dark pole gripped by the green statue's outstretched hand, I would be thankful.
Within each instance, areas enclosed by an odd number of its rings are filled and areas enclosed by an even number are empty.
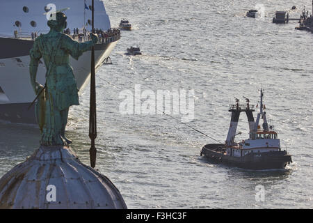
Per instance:
[[[92,5],[92,28],[95,33],[95,8],[94,0]],[[97,138],[97,116],[96,116],[96,91],[95,91],[95,47],[91,48],[91,70],[90,70],[90,113],[89,113],[89,138],[91,139],[90,166],[95,168],[97,149],[95,148],[95,138]]]

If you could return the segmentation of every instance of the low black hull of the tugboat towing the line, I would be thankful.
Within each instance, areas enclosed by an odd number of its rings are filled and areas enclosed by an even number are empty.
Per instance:
[[[264,153],[248,153],[243,157],[234,157],[225,154],[225,144],[207,144],[203,146],[201,155],[207,159],[243,169],[284,169],[292,162],[287,151],[272,151]]]

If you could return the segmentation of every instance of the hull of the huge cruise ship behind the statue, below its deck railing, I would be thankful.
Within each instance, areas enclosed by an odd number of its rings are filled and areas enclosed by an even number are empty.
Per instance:
[[[3,41],[4,38],[0,38]],[[7,41],[12,39],[6,39]],[[21,46],[26,43],[31,47],[33,41],[23,41]],[[31,42],[31,43],[30,43]],[[118,40],[113,43],[102,43],[95,47],[95,68],[102,65],[104,59],[108,57]],[[9,47],[9,46],[8,46]],[[11,52],[12,53],[12,52]],[[84,53],[78,61],[70,59],[70,64],[77,79],[77,88],[81,92],[90,79],[90,51]],[[15,123],[36,123],[34,107],[28,109],[35,98],[35,93],[30,82],[29,62],[30,56],[14,56],[3,58],[0,55],[0,119]],[[40,84],[45,84],[45,65],[40,63],[38,66],[37,80]]]

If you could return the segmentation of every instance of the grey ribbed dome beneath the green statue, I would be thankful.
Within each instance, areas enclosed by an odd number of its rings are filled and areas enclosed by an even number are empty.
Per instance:
[[[40,146],[0,179],[0,208],[127,208],[109,178],[70,147]]]

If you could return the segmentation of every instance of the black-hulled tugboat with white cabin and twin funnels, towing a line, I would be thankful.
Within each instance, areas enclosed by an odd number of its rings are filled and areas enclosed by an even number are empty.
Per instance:
[[[239,105],[239,99],[236,98],[236,104],[230,105],[229,111],[232,112],[232,118],[225,144],[207,144],[203,146],[200,155],[204,155],[209,160],[243,169],[284,169],[287,164],[290,164],[291,155],[281,150],[277,132],[274,131],[272,125],[268,126],[266,121],[263,95],[264,92],[261,89],[260,109],[256,121],[252,114],[255,110],[249,105],[250,100],[246,98],[246,105]],[[248,117],[250,134],[249,139],[235,142],[241,112],[245,112]],[[263,129],[259,125],[260,118],[263,119]]]

